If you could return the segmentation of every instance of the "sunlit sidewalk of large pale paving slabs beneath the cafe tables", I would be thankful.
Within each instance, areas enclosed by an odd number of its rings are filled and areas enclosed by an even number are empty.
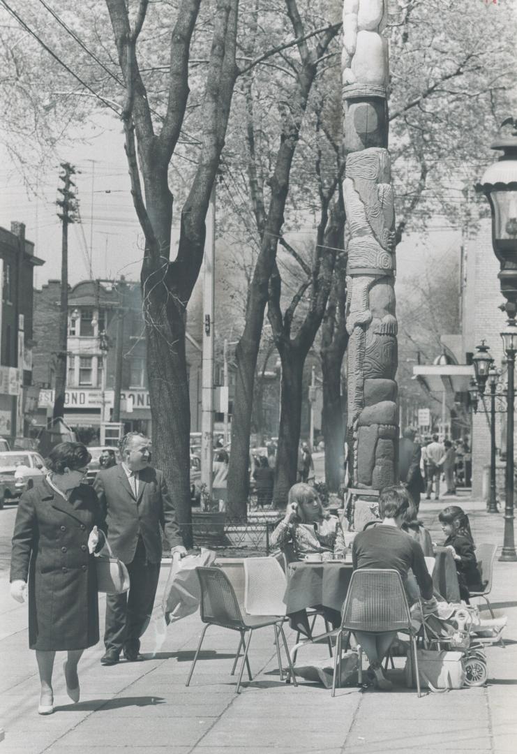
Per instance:
[[[421,517],[442,539],[437,514],[456,502],[471,514],[477,543],[503,540],[503,518],[465,498],[421,504]],[[2,511],[4,513],[4,511]],[[0,516],[2,515],[0,513]],[[7,519],[0,518],[0,521]],[[168,566],[163,566],[158,599]],[[0,575],[0,754],[82,754],[99,751],[142,754],[510,754],[517,750],[517,563],[496,562],[491,602],[509,624],[506,648],[487,648],[486,688],[427,694],[396,685],[390,693],[345,688],[330,691],[306,682],[280,682],[272,631],[253,636],[253,682],[234,694],[229,675],[236,635],[211,627],[189,688],[185,680],[197,646],[198,615],[170,626],[158,647],[152,627],[143,637],[148,660],[102,667],[102,644],[84,653],[79,666],[81,702],[69,703],[63,685],[64,655],[56,659],[56,711],[38,716],[38,673],[27,648],[26,605],[8,594]],[[104,599],[100,601],[101,620]],[[294,641],[294,634],[288,635]],[[154,657],[151,653],[155,651]],[[304,656],[324,657],[314,646]],[[395,677],[398,682],[398,678]]]

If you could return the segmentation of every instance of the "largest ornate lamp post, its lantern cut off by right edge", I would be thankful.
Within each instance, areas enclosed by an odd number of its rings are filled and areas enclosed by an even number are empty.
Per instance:
[[[517,560],[513,539],[513,410],[514,367],[517,351],[517,121],[506,118],[501,128],[511,125],[511,136],[499,136],[492,149],[503,155],[485,171],[476,192],[488,199],[492,214],[492,245],[500,262],[501,293],[506,299],[508,326],[501,337],[508,359],[508,396],[506,401],[506,503],[504,509],[504,542],[500,560]]]

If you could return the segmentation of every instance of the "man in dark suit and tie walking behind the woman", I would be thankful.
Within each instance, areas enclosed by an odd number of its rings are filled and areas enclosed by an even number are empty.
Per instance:
[[[149,466],[151,440],[130,432],[121,441],[122,463],[100,470],[93,487],[106,516],[109,544],[127,566],[130,590],[106,596],[103,665],[141,659],[140,636],[151,617],[161,562],[161,532],[171,553],[186,554],[164,474]]]

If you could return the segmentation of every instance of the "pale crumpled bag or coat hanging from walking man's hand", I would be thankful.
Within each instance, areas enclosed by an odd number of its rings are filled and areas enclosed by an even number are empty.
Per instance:
[[[161,602],[167,626],[197,610],[201,595],[196,569],[211,566],[215,559],[216,553],[203,547],[199,555],[173,558]]]

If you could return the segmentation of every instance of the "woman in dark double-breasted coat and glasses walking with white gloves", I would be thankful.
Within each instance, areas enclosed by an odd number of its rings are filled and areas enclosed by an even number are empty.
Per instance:
[[[91,455],[81,443],[61,443],[47,459],[49,474],[20,498],[11,556],[11,596],[29,593],[29,647],[41,680],[38,713],[54,712],[56,651],[67,651],[66,691],[79,700],[78,661],[99,641],[93,561],[102,513],[93,488],[82,484]]]

